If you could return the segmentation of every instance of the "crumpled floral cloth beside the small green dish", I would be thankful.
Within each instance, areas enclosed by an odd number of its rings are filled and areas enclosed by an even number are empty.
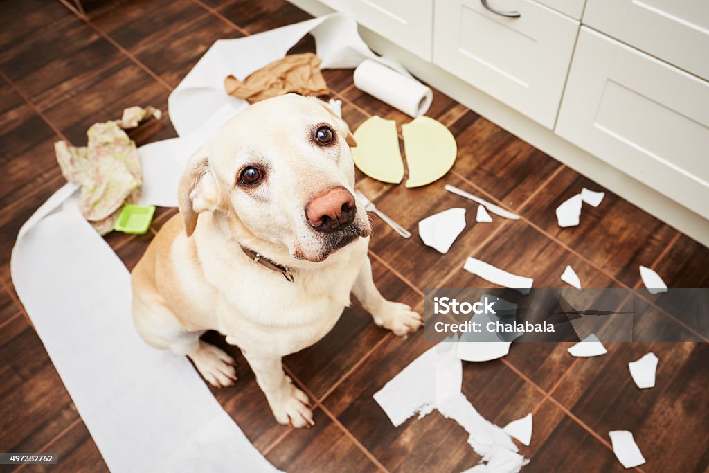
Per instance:
[[[86,132],[86,146],[63,140],[54,144],[62,174],[81,186],[79,210],[101,235],[113,230],[125,201],[135,204],[140,198],[138,149],[123,130],[150,116],[160,119],[162,113],[151,106],[126,108],[121,120],[94,123]]]

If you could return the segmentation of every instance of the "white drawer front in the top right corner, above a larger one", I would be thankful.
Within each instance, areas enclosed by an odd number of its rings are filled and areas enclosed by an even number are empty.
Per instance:
[[[588,0],[584,24],[709,79],[707,0]]]

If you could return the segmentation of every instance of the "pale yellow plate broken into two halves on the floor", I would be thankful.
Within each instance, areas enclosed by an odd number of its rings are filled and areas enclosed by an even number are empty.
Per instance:
[[[420,116],[401,130],[408,165],[406,187],[430,184],[453,167],[458,148],[453,134],[442,123]],[[354,139],[354,164],[364,174],[391,184],[401,182],[404,168],[395,121],[379,116],[368,118],[354,132]]]

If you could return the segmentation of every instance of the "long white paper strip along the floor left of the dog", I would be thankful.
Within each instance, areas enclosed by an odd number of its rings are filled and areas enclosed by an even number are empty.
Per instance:
[[[140,339],[130,274],[79,213],[76,189],[62,187],[23,226],[12,278],[108,468],[277,471],[186,357]]]

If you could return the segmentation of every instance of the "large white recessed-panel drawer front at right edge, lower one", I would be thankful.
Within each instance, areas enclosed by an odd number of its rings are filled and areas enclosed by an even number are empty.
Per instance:
[[[709,218],[709,82],[581,27],[556,133]]]

